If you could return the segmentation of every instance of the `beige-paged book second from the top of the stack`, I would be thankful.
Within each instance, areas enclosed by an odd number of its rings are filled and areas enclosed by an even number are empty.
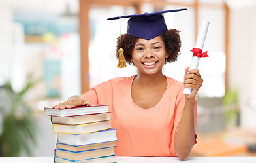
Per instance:
[[[97,113],[91,115],[79,115],[73,117],[51,117],[52,124],[88,124],[93,122],[100,122],[110,119],[110,112],[107,113]]]

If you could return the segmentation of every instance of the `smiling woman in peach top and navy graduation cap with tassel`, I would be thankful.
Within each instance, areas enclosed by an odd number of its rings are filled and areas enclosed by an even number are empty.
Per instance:
[[[187,67],[183,83],[162,72],[163,65],[174,62],[180,53],[180,31],[168,30],[162,16],[176,11],[180,10],[110,18],[131,17],[117,49],[122,46],[125,61],[134,64],[138,74],[103,82],[54,106],[108,104],[112,128],[118,129],[117,156],[178,156],[185,160],[197,143],[199,71]],[[192,88],[191,95],[182,93],[184,87]]]

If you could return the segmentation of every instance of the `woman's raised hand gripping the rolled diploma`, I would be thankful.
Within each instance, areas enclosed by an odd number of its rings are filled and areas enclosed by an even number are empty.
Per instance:
[[[198,90],[202,86],[203,79],[201,78],[201,75],[199,73],[198,69],[193,69],[189,71],[189,67],[185,69],[185,75],[184,75],[184,87],[192,88],[191,95],[186,95],[187,98],[194,99]]]

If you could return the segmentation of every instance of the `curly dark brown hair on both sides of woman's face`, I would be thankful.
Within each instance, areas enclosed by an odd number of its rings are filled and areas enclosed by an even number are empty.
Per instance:
[[[124,50],[125,61],[129,64],[133,63],[132,59],[132,52],[135,47],[135,43],[138,41],[139,37],[124,34],[121,35],[122,37],[122,48]],[[165,43],[165,49],[169,57],[166,58],[165,63],[167,62],[174,62],[177,60],[178,55],[180,54],[180,31],[177,29],[169,29],[161,34],[163,42]],[[120,48],[120,37],[117,38],[117,45],[116,45],[116,58],[119,58],[118,50]]]

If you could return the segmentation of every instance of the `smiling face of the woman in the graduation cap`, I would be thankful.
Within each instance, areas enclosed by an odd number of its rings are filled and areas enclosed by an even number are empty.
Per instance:
[[[138,39],[132,53],[132,61],[139,73],[153,75],[159,73],[167,58],[165,43],[161,36],[154,39]]]

